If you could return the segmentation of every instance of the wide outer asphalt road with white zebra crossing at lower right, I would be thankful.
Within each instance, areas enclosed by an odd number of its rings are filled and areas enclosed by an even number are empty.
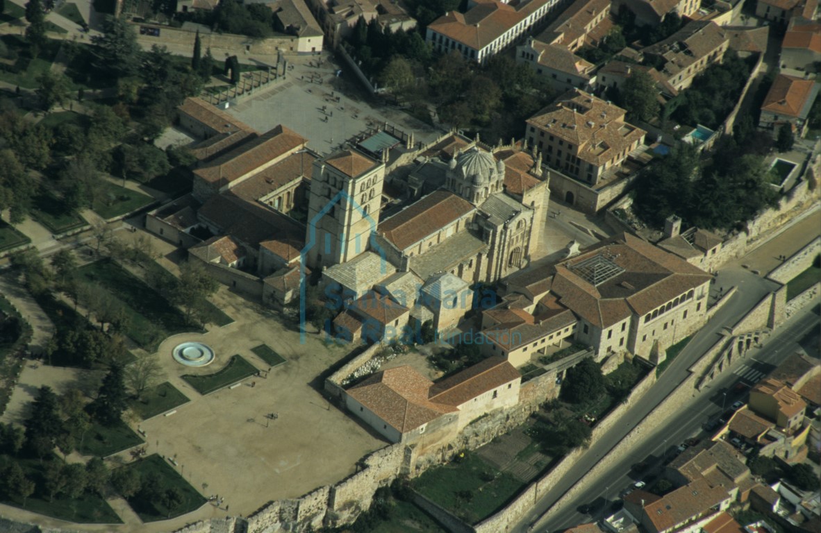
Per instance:
[[[579,494],[576,501],[571,502],[550,521],[540,523],[535,531],[561,531],[583,522],[598,521],[612,514],[612,503],[620,499],[624,490],[639,480],[650,485],[661,471],[663,463],[677,453],[679,444],[694,436],[699,439],[707,438],[704,426],[715,420],[725,408],[729,409],[737,399],[746,399],[749,389],[741,393],[733,391],[738,382],[753,385],[752,380],[745,380],[741,375],[752,375],[756,376],[755,380],[761,379],[760,376],[766,376],[779,362],[801,348],[814,348],[815,353],[810,355],[818,357],[818,344],[815,344],[818,335],[819,314],[816,305],[805,308],[796,317],[792,317],[784,327],[765,341],[762,348],[754,349],[742,363],[749,370],[744,368],[739,371],[741,365],[734,365],[734,371],[738,373],[723,372],[691,403],[682,406],[677,416],[669,418],[663,426],[658,426],[654,434],[649,435],[630,455],[613,465],[601,476],[599,483]],[[639,473],[631,470],[633,465],[642,461],[649,465],[648,471]],[[577,511],[582,504],[589,505],[589,514]]]

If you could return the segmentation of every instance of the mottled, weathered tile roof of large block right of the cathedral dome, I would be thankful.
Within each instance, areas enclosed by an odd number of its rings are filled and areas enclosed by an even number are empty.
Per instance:
[[[624,121],[621,107],[596,98],[580,89],[572,89],[527,120],[541,131],[577,147],[582,161],[601,166],[631,151],[647,133]]]

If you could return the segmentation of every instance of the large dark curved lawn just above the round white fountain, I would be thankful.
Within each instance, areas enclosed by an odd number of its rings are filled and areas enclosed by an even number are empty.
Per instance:
[[[129,316],[126,335],[141,347],[150,351],[168,335],[192,330],[177,307],[117,263],[93,262],[81,266],[77,272],[80,280],[89,285],[99,284],[126,307]]]

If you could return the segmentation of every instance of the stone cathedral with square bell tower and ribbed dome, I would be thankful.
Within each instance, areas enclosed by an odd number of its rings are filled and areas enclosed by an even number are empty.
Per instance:
[[[406,191],[398,211],[380,210],[387,157],[347,148],[314,162],[305,260],[344,303],[340,328],[375,319],[380,340],[414,322],[446,330],[477,306],[475,285],[521,270],[539,247],[549,193],[538,158],[458,134],[414,155],[391,182]]]

